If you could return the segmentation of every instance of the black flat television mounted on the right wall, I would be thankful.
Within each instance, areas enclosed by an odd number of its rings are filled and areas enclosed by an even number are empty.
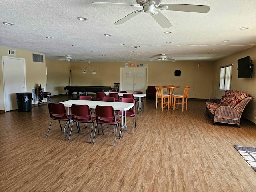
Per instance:
[[[237,66],[238,78],[252,78],[253,65],[250,56],[238,59]]]

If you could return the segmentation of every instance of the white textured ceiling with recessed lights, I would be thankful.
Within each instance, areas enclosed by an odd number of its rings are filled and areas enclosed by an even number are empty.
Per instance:
[[[163,0],[210,6],[208,13],[160,10],[173,25],[166,29],[144,12],[114,25],[141,8],[91,4],[96,1],[104,0],[1,0],[0,44],[44,53],[50,59],[70,55],[92,62],[143,63],[160,54],[177,61],[215,61],[256,45],[256,0]],[[104,2],[136,4],[136,0]],[[88,20],[78,20],[79,16]]]

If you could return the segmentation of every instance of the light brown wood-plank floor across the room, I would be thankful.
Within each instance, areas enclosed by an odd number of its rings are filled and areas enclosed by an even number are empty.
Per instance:
[[[213,126],[204,100],[188,100],[182,112],[144,99],[134,134],[127,118],[115,147],[112,127],[94,144],[90,128],[74,127],[68,142],[53,121],[46,139],[46,104],[0,116],[1,192],[256,192],[256,172],[233,147],[256,147],[255,124]]]

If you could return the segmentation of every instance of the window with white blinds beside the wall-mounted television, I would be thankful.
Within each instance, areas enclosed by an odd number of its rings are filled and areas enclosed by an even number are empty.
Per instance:
[[[220,67],[220,90],[226,91],[231,87],[232,65]]]

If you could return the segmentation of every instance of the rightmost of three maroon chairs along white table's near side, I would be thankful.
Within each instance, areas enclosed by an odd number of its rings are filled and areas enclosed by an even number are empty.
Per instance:
[[[92,143],[94,143],[96,128],[98,128],[98,133],[100,134],[98,124],[114,125],[114,132],[116,132],[115,140],[114,140],[114,146],[115,146],[118,125],[120,126],[120,132],[121,132],[122,136],[123,136],[123,132],[121,129],[120,119],[116,118],[114,108],[112,106],[97,105],[95,108],[95,114],[96,114],[96,126],[95,126],[95,130],[94,130],[94,136],[93,136]],[[101,128],[102,128],[102,135],[104,135],[103,127],[101,126]]]

